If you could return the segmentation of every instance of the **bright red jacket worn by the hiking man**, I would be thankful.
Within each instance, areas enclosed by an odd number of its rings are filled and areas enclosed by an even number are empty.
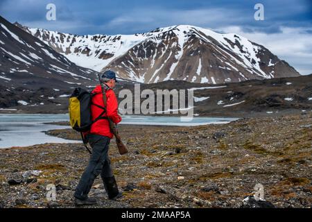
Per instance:
[[[96,93],[96,95],[92,97],[92,103],[104,106],[101,85],[97,85],[92,93]],[[117,112],[118,102],[112,89],[107,89],[106,91],[106,103],[107,111],[103,114],[103,117],[109,117],[114,123],[119,123],[121,121],[121,116],[119,116]],[[101,114],[101,112],[103,112],[103,109],[98,108],[96,105],[91,105],[91,112],[93,121]],[[111,139],[114,136],[110,132],[110,124],[108,123],[107,119],[99,119],[98,121],[93,123],[89,133],[103,135],[105,137],[110,137]]]

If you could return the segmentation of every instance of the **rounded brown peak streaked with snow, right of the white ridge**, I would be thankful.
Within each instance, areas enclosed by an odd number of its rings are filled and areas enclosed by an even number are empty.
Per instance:
[[[159,28],[106,67],[144,83],[187,80],[227,83],[300,76],[268,49],[236,34],[194,26]]]

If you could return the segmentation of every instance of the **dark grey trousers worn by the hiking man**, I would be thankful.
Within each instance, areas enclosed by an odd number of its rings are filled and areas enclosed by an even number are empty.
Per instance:
[[[76,187],[74,197],[85,200],[94,183],[95,178],[101,173],[101,178],[113,176],[110,167],[110,157],[108,157],[108,145],[110,138],[102,135],[87,135],[90,146],[92,146],[92,155],[89,164],[80,178]]]

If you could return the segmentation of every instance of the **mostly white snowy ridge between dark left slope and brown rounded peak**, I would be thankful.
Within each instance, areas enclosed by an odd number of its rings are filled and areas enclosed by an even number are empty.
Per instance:
[[[123,56],[136,44],[143,42],[149,34],[135,35],[71,35],[42,28],[28,28],[15,23],[31,33],[58,53],[62,53],[81,67],[101,71],[114,58]]]

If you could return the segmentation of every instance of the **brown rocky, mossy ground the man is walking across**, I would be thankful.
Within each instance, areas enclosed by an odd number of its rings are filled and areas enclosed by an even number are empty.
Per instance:
[[[108,200],[100,179],[92,207],[311,207],[312,112],[196,127],[120,126],[129,153],[110,145],[123,198]],[[72,130],[51,135],[77,139]],[[89,154],[82,144],[0,150],[0,207],[75,207]],[[261,183],[268,202],[246,198]],[[46,186],[56,200],[46,200]],[[243,201],[245,199],[245,201]],[[261,205],[262,204],[262,205]],[[272,205],[270,205],[272,204]]]

